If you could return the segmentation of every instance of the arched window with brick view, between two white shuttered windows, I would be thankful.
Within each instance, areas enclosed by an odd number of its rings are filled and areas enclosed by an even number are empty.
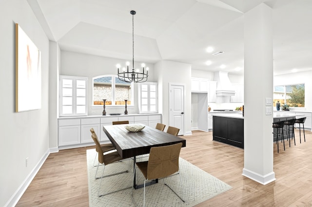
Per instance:
[[[93,78],[93,105],[133,105],[133,83],[120,81],[117,75]]]

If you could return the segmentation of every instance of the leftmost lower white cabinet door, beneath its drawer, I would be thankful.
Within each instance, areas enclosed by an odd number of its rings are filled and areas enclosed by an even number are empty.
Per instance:
[[[59,146],[72,144],[80,144],[80,125],[59,126]]]

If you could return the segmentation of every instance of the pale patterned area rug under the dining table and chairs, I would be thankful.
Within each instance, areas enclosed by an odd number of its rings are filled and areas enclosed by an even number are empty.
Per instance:
[[[87,150],[87,169],[89,187],[89,206],[90,207],[134,207],[131,193],[137,206],[143,206],[143,188],[133,190],[133,160],[126,159],[121,162],[105,166],[104,176],[128,170],[129,173],[122,173],[114,176],[102,178],[100,194],[110,193],[98,197],[98,186],[100,179],[95,179],[96,167],[94,167],[95,149]],[[148,160],[148,157],[137,158],[137,161]],[[96,164],[97,164],[96,160]],[[173,175],[165,179],[165,182],[180,195],[185,203],[176,194],[164,185],[163,179],[157,184],[146,187],[145,206],[147,207],[189,207],[195,206],[207,199],[210,199],[222,192],[230,190],[232,187],[197,168],[188,161],[179,158],[179,168],[182,183],[179,175]],[[103,166],[98,168],[98,176],[101,176]],[[144,183],[144,177],[137,170],[137,184]],[[181,190],[183,189],[183,190]]]

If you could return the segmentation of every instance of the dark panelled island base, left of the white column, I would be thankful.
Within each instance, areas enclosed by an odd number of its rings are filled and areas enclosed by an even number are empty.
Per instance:
[[[213,116],[213,140],[244,149],[244,119]]]

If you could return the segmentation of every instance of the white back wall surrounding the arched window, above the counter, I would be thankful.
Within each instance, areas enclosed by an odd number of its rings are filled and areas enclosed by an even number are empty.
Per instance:
[[[99,75],[117,74],[116,65],[121,66],[129,60],[121,60],[115,58],[101,57],[77,52],[61,51],[60,75],[88,77],[88,115],[102,115],[103,106],[92,106],[92,78]],[[153,64],[145,64],[149,67],[149,82],[156,82],[155,70]],[[141,63],[135,62],[135,68],[141,68]],[[134,84],[134,104],[136,106],[128,106],[129,114],[138,113],[137,107],[137,84]],[[106,113],[123,113],[124,106],[106,106]],[[92,113],[94,112],[94,113]]]

